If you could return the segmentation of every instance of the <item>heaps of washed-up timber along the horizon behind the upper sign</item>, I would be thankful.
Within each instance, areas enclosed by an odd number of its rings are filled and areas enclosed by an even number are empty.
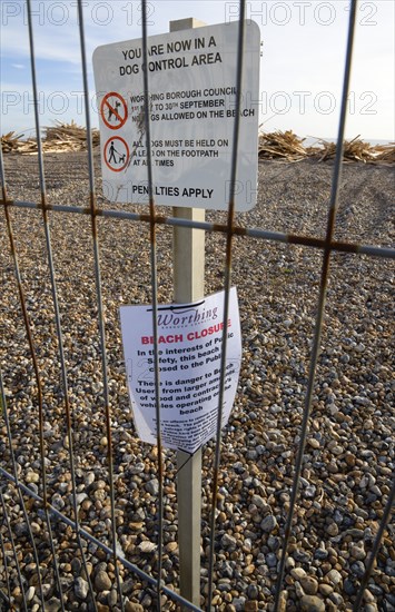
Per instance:
[[[100,146],[98,129],[91,130],[93,147]],[[336,156],[336,145],[327,140],[317,139],[318,146],[305,147],[305,138],[299,138],[292,130],[260,132],[258,139],[258,155],[260,159],[282,159],[284,161],[300,161],[313,158],[317,161],[327,161]],[[33,155],[38,151],[37,140],[23,140],[23,134],[10,131],[1,137],[1,147],[4,154],[18,152]],[[87,149],[87,130],[71,124],[56,121],[53,126],[43,128],[42,150],[45,152],[83,151]],[[345,161],[362,161],[364,164],[395,164],[395,144],[372,146],[357,136],[344,142],[343,159]]]

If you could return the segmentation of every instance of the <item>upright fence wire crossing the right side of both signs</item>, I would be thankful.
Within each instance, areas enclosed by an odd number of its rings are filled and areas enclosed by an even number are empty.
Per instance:
[[[236,65],[236,103],[235,103],[235,121],[234,121],[234,138],[231,148],[231,166],[229,181],[229,204],[227,215],[227,234],[226,234],[226,260],[224,270],[224,327],[221,337],[221,358],[220,358],[220,383],[218,396],[218,414],[216,430],[216,447],[213,465],[213,486],[211,486],[211,507],[210,507],[210,542],[209,542],[209,570],[208,570],[208,598],[207,610],[211,610],[213,589],[214,589],[214,564],[215,564],[215,535],[216,535],[216,510],[217,495],[219,486],[219,467],[220,467],[220,451],[221,451],[221,428],[224,413],[224,395],[225,395],[225,373],[226,373],[226,352],[228,344],[228,326],[229,317],[229,293],[231,285],[231,247],[234,239],[234,220],[235,220],[235,193],[237,179],[237,159],[238,159],[238,140],[240,128],[240,110],[241,110],[241,83],[243,83],[243,61],[244,61],[244,40],[245,40],[245,11],[246,2],[240,0],[239,3],[239,20],[238,20],[238,37],[237,37],[237,65]]]

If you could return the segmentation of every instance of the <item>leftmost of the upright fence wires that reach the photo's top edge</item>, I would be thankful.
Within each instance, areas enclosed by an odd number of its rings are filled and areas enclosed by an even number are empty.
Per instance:
[[[37,87],[37,72],[36,72],[36,52],[34,52],[34,37],[33,37],[33,27],[32,27],[32,16],[31,16],[31,1],[27,0],[28,7],[28,27],[29,27],[29,45],[30,45],[30,65],[31,65],[31,79],[32,79],[32,89],[33,89],[33,108],[34,108],[34,125],[36,125],[36,138],[37,138],[37,148],[38,148],[38,166],[39,166],[39,181],[40,181],[40,191],[41,191],[41,205],[42,205],[42,220],[46,234],[46,245],[47,245],[47,255],[48,255],[48,265],[49,274],[51,282],[51,294],[53,302],[56,328],[57,328],[57,338],[58,338],[58,348],[59,348],[59,359],[60,368],[63,384],[65,393],[65,411],[66,411],[66,425],[67,425],[67,436],[68,436],[68,455],[70,464],[70,475],[71,475],[71,487],[72,487],[72,507],[76,522],[76,537],[77,544],[81,554],[82,566],[87,576],[88,589],[90,599],[93,605],[95,611],[97,611],[93,589],[90,580],[90,575],[87,567],[86,555],[83,553],[82,542],[80,537],[80,526],[78,517],[78,504],[77,504],[77,483],[76,483],[76,467],[75,467],[75,456],[73,456],[73,435],[72,435],[72,421],[71,421],[71,407],[69,398],[69,388],[68,388],[68,374],[65,359],[65,349],[63,349],[63,338],[61,330],[60,322],[60,310],[59,310],[59,300],[57,292],[57,282],[53,266],[53,256],[52,256],[52,245],[51,245],[51,234],[47,210],[47,188],[46,188],[46,176],[45,176],[45,166],[43,166],[43,154],[42,154],[42,142],[41,142],[41,129],[40,129],[40,119],[39,119],[39,97],[38,97],[38,87]],[[40,584],[40,589],[42,586]],[[42,598],[42,593],[41,593]],[[42,600],[43,605],[43,600]]]

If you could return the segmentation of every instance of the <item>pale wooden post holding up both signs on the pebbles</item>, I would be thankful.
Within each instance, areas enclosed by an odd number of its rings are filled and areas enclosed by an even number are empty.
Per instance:
[[[206,26],[195,18],[170,21],[170,32]],[[174,208],[174,216],[205,220],[199,208]],[[174,229],[175,302],[196,302],[205,295],[205,233]],[[200,606],[201,450],[177,453],[178,543],[181,595]]]

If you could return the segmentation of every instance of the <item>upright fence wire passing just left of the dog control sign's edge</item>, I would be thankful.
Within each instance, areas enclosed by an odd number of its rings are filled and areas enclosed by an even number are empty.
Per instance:
[[[107,433],[107,441],[108,441],[107,464],[108,464],[110,506],[111,506],[111,541],[112,541],[112,550],[113,550],[113,566],[115,566],[116,582],[118,588],[121,611],[124,612],[125,605],[124,605],[122,589],[121,589],[121,583],[119,578],[119,567],[118,567],[118,559],[117,559],[118,539],[117,539],[116,502],[115,502],[115,486],[113,486],[112,432],[111,432],[110,399],[109,399],[109,387],[108,387],[106,324],[105,324],[105,315],[103,315],[103,307],[102,307],[102,292],[101,292],[100,254],[99,254],[97,201],[96,201],[95,169],[93,169],[93,149],[92,149],[90,109],[89,109],[89,85],[88,85],[87,51],[86,51],[86,45],[85,45],[82,0],[78,0],[77,13],[78,13],[79,34],[80,34],[83,102],[85,102],[85,118],[86,118],[86,128],[87,128],[87,149],[88,149],[88,167],[89,167],[89,189],[90,189],[89,201],[90,201],[91,229],[92,229],[92,239],[93,239],[96,294],[97,294],[97,304],[98,304],[98,320],[99,320],[100,347],[101,347],[101,369],[102,369],[102,379],[103,379],[103,399],[105,399],[105,411],[106,411],[106,433]]]

